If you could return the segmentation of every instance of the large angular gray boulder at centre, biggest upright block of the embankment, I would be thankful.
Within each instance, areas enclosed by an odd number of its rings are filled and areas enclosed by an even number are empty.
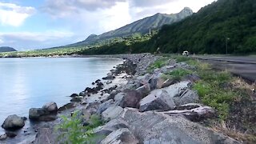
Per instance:
[[[140,111],[149,110],[172,110],[175,106],[174,101],[170,98],[166,90],[158,90],[158,93],[153,93],[140,102]]]

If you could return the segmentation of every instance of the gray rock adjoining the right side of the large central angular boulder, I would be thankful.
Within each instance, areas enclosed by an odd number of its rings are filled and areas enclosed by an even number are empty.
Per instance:
[[[177,106],[187,103],[196,103],[199,101],[198,94],[190,89],[185,90],[181,95],[174,96],[174,102]]]

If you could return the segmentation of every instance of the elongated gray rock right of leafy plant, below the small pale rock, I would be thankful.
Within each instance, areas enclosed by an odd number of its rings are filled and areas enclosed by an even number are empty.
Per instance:
[[[99,126],[94,129],[94,134],[105,135],[112,133],[115,130],[128,128],[128,123],[122,118],[113,119],[110,122],[107,122],[104,126]]]

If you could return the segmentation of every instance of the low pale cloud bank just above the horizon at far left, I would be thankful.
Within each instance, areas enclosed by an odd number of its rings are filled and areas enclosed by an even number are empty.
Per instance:
[[[69,44],[66,42],[72,38],[74,38],[74,34],[68,31],[10,32],[0,33],[0,44],[1,46],[12,46],[19,49],[48,48]]]

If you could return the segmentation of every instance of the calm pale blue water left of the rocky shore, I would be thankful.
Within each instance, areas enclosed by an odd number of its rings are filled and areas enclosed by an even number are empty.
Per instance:
[[[0,58],[0,125],[10,114],[28,117],[46,102],[62,106],[70,94],[105,77],[114,58]]]

